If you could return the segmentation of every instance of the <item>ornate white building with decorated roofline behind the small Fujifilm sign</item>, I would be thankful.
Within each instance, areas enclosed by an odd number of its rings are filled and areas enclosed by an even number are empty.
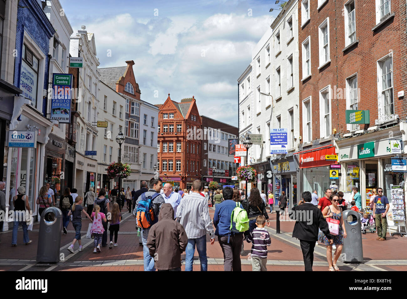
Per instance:
[[[95,188],[97,155],[85,156],[85,151],[96,151],[98,131],[98,94],[99,94],[99,65],[96,58],[96,46],[93,33],[88,33],[82,26],[76,35],[71,36],[70,55],[83,57],[83,68],[79,68],[79,91],[76,110],[77,144],[74,171],[74,187],[79,195],[84,195],[89,187]],[[94,126],[95,124],[95,126]]]

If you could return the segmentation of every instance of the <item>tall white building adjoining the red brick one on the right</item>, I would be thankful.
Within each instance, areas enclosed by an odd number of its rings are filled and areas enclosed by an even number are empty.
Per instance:
[[[260,174],[259,189],[267,190],[273,183],[274,193],[277,190],[279,195],[284,185],[289,199],[294,198],[295,202],[296,190],[293,191],[292,186],[297,184],[298,162],[294,161],[293,153],[298,150],[300,141],[296,70],[298,1],[290,0],[252,51],[252,62],[238,79],[239,136],[242,142],[247,133],[263,135],[263,146],[252,145],[249,149],[249,164]],[[287,129],[288,154],[270,154],[270,132],[275,128]],[[279,167],[278,163],[284,161],[291,165],[289,170]],[[277,175],[274,182],[266,178],[267,170]]]

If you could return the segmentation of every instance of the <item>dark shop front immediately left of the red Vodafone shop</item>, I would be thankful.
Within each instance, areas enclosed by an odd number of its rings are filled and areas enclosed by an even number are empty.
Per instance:
[[[275,160],[270,160],[271,175],[266,171],[267,180],[272,181],[272,185],[267,187],[273,188],[274,198],[278,197],[284,191],[288,199],[288,208],[298,204],[297,178],[298,178],[298,160],[293,154],[280,156]],[[276,200],[278,202],[278,200]]]

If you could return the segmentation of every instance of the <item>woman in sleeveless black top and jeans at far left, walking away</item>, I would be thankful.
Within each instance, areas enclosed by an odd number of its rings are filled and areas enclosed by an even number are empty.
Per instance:
[[[14,206],[14,225],[13,225],[13,235],[11,237],[11,246],[17,246],[17,231],[18,225],[21,223],[23,227],[24,243],[26,245],[30,244],[31,241],[28,237],[27,222],[28,217],[27,213],[31,211],[30,204],[28,203],[28,196],[25,195],[25,188],[20,186],[17,188],[18,195],[13,198]],[[31,220],[32,221],[32,220]]]

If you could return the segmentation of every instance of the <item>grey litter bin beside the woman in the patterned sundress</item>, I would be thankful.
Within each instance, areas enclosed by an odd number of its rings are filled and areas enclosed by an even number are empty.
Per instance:
[[[342,214],[344,218],[346,238],[342,249],[342,262],[363,262],[361,216],[353,210],[346,210]]]

